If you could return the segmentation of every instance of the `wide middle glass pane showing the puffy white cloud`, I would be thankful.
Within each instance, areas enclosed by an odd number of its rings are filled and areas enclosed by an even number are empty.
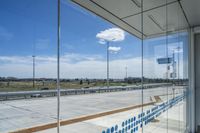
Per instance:
[[[140,39],[65,0],[61,3],[60,59],[61,120],[65,123],[61,132],[138,130]]]

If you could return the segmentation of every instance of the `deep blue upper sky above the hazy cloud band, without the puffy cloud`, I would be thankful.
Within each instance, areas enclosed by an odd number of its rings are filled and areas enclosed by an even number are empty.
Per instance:
[[[0,30],[7,32],[7,39],[0,38],[1,55],[56,54],[56,0],[3,0],[0,4]],[[105,47],[98,44],[96,34],[115,27],[92,15],[75,4],[62,1],[61,47],[62,53],[102,54]],[[4,35],[6,37],[6,34]],[[40,43],[47,43],[39,47]],[[140,56],[140,41],[126,33],[120,45],[124,53]],[[45,45],[45,44],[43,44]],[[35,47],[35,48],[34,48]],[[9,50],[6,50],[9,49]],[[34,50],[35,49],[35,50]]]

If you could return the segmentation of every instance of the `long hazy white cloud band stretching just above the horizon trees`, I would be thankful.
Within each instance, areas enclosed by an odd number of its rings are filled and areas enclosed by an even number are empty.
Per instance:
[[[77,62],[74,63],[74,60]],[[143,62],[145,77],[164,77],[166,65],[158,65],[155,58],[144,58]],[[110,78],[124,78],[125,67],[128,68],[128,76],[141,77],[141,63],[141,57],[111,60]],[[0,56],[0,64],[1,76],[32,77],[31,56]],[[56,66],[56,56],[36,56],[36,77],[56,78]],[[180,66],[182,76],[182,62],[180,62]],[[61,56],[60,67],[61,78],[106,78],[106,60],[98,55],[65,54]]]

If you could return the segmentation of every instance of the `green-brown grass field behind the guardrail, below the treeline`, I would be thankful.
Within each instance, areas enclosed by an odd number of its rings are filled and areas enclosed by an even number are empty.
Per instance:
[[[80,89],[80,88],[89,88],[89,87],[103,87],[106,86],[106,82],[98,81],[98,82],[82,82],[80,81],[70,81],[70,82],[60,82],[60,86],[62,89]],[[126,86],[127,83],[121,82],[110,82],[110,86]],[[129,84],[130,85],[130,84]],[[0,82],[0,92],[10,92],[10,91],[31,91],[31,90],[41,90],[42,88],[55,89],[56,82],[55,81],[35,81],[35,87],[33,87],[32,81],[10,81],[10,82]]]

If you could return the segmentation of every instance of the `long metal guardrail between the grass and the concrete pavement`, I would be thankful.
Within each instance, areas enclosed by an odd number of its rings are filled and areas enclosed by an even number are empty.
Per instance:
[[[144,84],[143,89],[156,88],[163,86],[171,86],[170,83],[159,83],[159,84]],[[134,86],[110,86],[107,87],[91,87],[81,89],[61,89],[60,95],[81,95],[91,93],[105,93],[105,92],[117,92],[117,91],[130,91],[142,89],[141,85]],[[36,91],[17,91],[17,92],[0,92],[0,100],[16,100],[16,99],[27,99],[34,97],[52,97],[57,96],[57,90],[36,90]]]

